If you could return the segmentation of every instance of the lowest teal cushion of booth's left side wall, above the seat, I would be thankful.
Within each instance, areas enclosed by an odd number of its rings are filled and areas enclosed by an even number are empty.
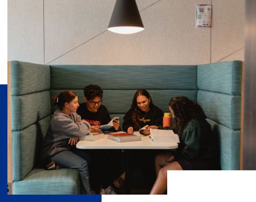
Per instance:
[[[13,181],[22,180],[39,162],[41,144],[50,121],[48,116],[24,130],[12,132]]]

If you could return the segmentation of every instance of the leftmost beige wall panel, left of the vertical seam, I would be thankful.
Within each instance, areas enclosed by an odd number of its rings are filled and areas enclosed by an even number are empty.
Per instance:
[[[44,63],[43,0],[7,1],[7,61]]]

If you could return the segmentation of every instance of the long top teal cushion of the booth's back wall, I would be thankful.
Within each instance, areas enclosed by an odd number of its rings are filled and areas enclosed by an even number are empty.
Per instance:
[[[50,65],[51,89],[197,90],[197,65]],[[74,82],[75,81],[75,82]]]

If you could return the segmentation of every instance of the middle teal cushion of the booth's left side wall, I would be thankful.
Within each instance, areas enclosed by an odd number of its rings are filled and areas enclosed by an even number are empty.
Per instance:
[[[51,113],[50,92],[12,96],[12,130],[20,131]]]

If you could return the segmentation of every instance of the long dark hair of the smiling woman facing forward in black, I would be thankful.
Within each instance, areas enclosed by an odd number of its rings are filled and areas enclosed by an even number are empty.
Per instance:
[[[147,97],[148,99],[150,99],[150,103],[149,103],[149,108],[153,108],[155,107],[153,102],[152,102],[152,98],[150,97],[148,91],[144,90],[144,89],[140,89],[138,90],[134,97],[133,97],[133,101],[132,101],[132,122],[133,122],[133,126],[134,126],[134,131],[138,131],[140,130],[141,126],[140,126],[140,118],[141,118],[141,110],[138,107],[137,104],[137,98],[139,95],[144,95],[145,97]]]

